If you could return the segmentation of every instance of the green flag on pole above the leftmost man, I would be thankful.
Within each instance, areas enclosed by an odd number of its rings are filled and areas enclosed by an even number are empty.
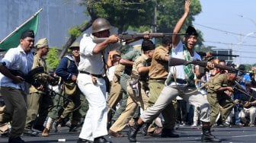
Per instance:
[[[34,14],[32,17],[30,17],[24,24],[18,27],[17,30],[14,30],[14,32],[12,32],[11,35],[9,35],[4,40],[2,40],[0,42],[0,49],[8,50],[10,48],[17,47],[20,43],[21,33],[24,30],[27,30],[27,29],[34,30],[34,34],[36,35],[38,21],[39,21],[38,19],[39,12]]]

